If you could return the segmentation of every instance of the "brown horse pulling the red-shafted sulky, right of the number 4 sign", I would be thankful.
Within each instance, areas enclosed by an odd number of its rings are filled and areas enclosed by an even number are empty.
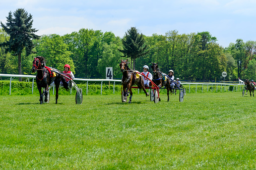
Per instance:
[[[133,85],[137,84],[139,89],[143,89],[146,96],[149,96],[149,93],[147,93],[144,87],[144,81],[142,76],[140,75],[138,78],[136,77],[136,72],[139,72],[139,71],[132,71],[127,65],[127,61],[128,60],[121,60],[121,63],[119,64],[120,70],[122,72],[122,87],[123,87],[122,95],[124,96],[124,99],[122,100],[122,102],[127,101],[127,94],[128,94],[128,91],[130,91],[131,96],[130,96],[129,103],[131,103],[132,96],[133,96],[133,92],[132,92]]]

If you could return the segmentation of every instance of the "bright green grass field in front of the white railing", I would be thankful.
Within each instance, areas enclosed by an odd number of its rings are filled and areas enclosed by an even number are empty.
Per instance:
[[[255,169],[255,97],[241,92],[0,96],[0,169]]]

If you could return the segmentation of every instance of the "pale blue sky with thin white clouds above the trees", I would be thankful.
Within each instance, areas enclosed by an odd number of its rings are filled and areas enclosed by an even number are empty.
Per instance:
[[[20,8],[33,16],[39,36],[85,28],[122,38],[136,27],[146,36],[208,31],[222,47],[256,41],[255,0],[1,0],[0,21],[6,24],[9,12]]]

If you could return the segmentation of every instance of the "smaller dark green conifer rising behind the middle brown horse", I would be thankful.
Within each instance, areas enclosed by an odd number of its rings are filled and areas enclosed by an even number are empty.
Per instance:
[[[135,27],[125,32],[122,44],[123,49],[119,49],[119,51],[124,54],[124,57],[131,58],[133,69],[135,69],[136,59],[149,53],[144,35],[139,34]]]

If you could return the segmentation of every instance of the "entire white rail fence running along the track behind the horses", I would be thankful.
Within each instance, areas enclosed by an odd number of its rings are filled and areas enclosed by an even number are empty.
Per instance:
[[[36,78],[36,76],[31,76],[31,75],[15,75],[15,74],[0,74],[0,77],[10,77],[10,95],[11,95],[11,88],[12,88],[12,78],[13,77],[24,77],[24,78],[33,78],[32,80],[32,94],[34,91],[34,79]],[[88,93],[88,82],[101,82],[101,90],[100,90],[100,94],[102,95],[102,83],[103,81],[105,82],[114,82],[114,87],[113,87],[113,93],[115,93],[115,82],[121,82],[121,80],[111,80],[111,79],[78,79],[75,78],[74,81],[87,81],[87,85],[86,85],[86,94]],[[233,90],[236,87],[236,91],[237,89],[239,89],[240,87],[240,91],[242,89],[242,86],[244,86],[243,81],[239,80],[239,84],[228,84],[228,83],[181,83],[181,84],[189,84],[189,89],[188,92],[190,93],[190,85],[196,85],[196,93],[197,93],[197,87],[202,85],[202,93],[203,93],[203,86],[207,85],[207,92],[209,89],[209,86],[212,86],[212,92],[213,92],[213,86],[216,85],[216,92],[218,92],[218,86],[220,86],[220,91],[222,92],[222,86],[224,86],[224,90],[226,91],[226,86],[228,86],[228,90],[229,90],[229,86],[232,85],[233,86]],[[239,86],[239,87],[238,87]],[[72,92],[72,91],[71,91]],[[138,89],[138,93],[139,93],[139,89]],[[54,94],[54,87],[53,87],[53,94]]]

